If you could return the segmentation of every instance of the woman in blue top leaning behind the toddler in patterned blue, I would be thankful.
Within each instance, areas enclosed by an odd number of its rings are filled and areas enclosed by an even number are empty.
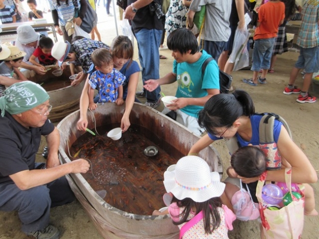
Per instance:
[[[135,101],[140,69],[137,62],[133,61],[133,45],[127,36],[115,37],[110,49],[113,55],[114,68],[125,76],[125,81],[123,82],[123,99],[126,101],[126,104],[121,121],[122,132],[125,132],[131,125],[129,116]],[[94,71],[94,65],[90,67],[90,70],[92,70],[92,72]],[[90,70],[89,73],[92,73]],[[80,99],[80,120],[77,124],[78,130],[82,131],[85,131],[87,127],[86,113],[89,106],[88,89],[89,84],[87,78]]]

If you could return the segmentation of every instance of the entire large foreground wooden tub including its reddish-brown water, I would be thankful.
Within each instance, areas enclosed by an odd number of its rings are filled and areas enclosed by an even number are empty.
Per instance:
[[[159,111],[134,103],[130,129],[113,141],[106,133],[120,127],[124,110],[125,105],[106,103],[98,104],[94,116],[88,112],[87,128],[96,136],[76,129],[79,111],[58,124],[60,160],[85,158],[91,163],[86,174],[68,176],[70,186],[106,239],[177,239],[179,229],[169,215],[152,212],[165,206],[163,172],[186,156],[199,137]],[[149,146],[158,153],[145,155]],[[222,176],[222,162],[212,146],[199,156]]]

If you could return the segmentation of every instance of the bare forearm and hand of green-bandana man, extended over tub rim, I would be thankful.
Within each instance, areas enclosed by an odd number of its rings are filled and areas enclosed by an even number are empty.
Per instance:
[[[21,190],[27,190],[35,186],[48,184],[69,173],[86,173],[89,168],[88,161],[77,159],[53,168],[20,171],[9,177]]]

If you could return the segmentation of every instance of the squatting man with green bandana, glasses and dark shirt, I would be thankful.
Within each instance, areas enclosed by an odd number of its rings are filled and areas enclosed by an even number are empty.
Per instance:
[[[37,239],[60,238],[49,224],[50,208],[75,199],[64,176],[90,167],[84,159],[60,165],[51,108],[48,93],[31,81],[11,85],[0,97],[0,211],[18,211],[22,231]],[[35,162],[41,135],[50,149],[47,163]]]

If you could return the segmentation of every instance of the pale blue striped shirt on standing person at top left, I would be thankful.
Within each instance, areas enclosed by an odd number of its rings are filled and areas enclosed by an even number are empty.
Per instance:
[[[79,8],[80,1],[78,1]],[[49,0],[51,10],[56,10],[57,15],[59,16],[60,26],[65,26],[66,21],[73,18],[75,15],[75,8],[72,0],[68,0],[68,5],[66,4],[66,1],[60,1],[60,6],[57,5],[56,0]]]

